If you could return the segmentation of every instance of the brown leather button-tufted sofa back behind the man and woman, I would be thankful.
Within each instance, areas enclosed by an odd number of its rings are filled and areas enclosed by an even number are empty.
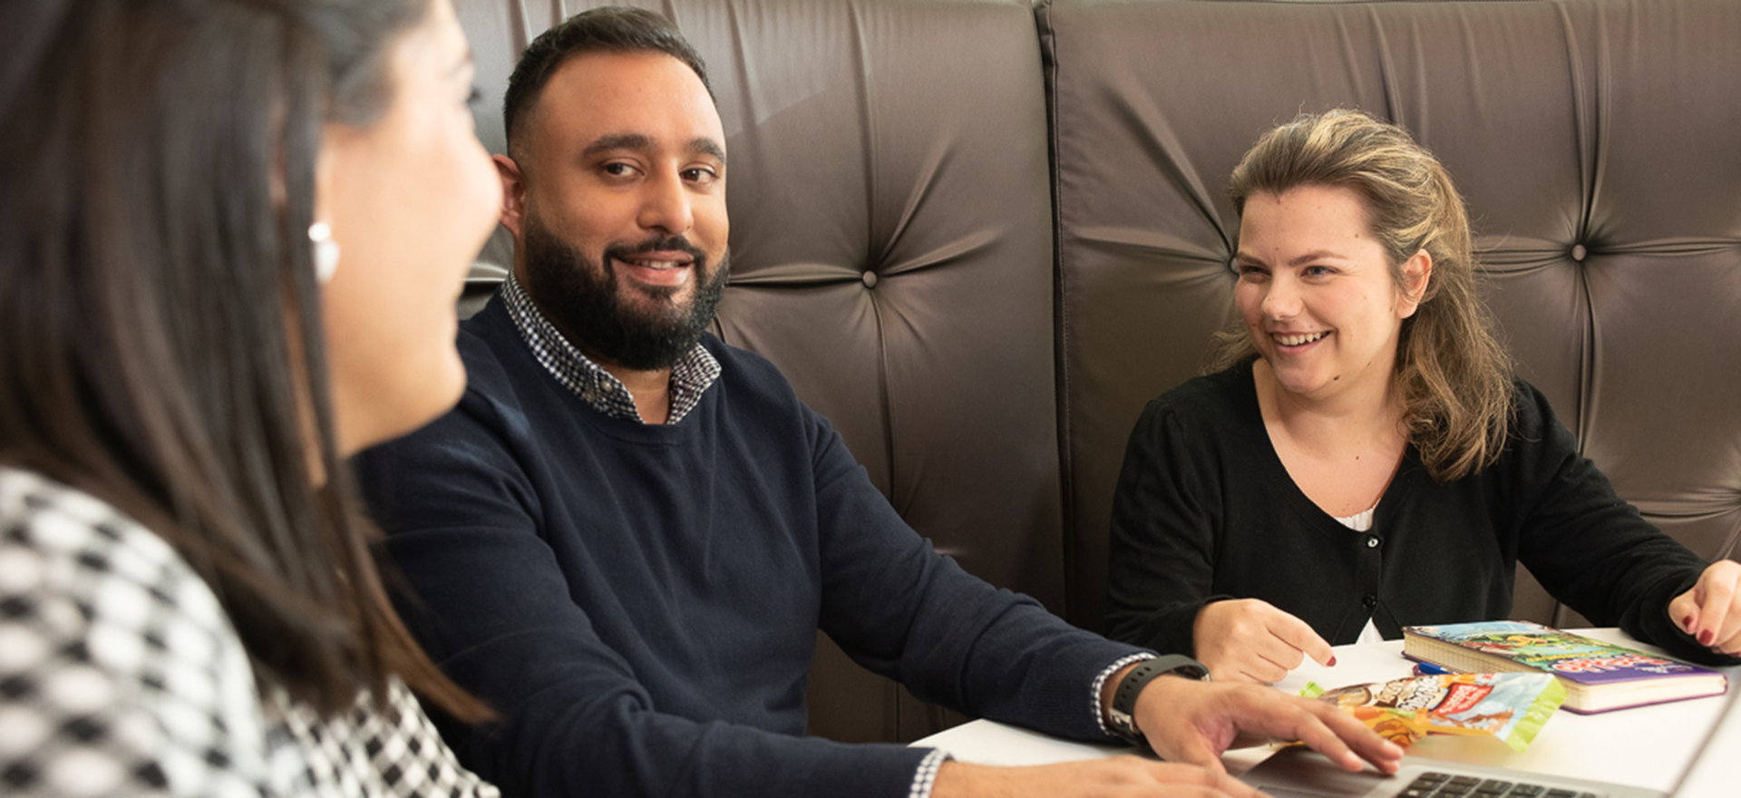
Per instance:
[[[1238,157],[1297,112],[1396,120],[1469,202],[1525,378],[1649,519],[1741,535],[1741,3],[635,0],[709,61],[733,279],[775,361],[938,551],[1095,629],[1142,404],[1231,321]],[[456,0],[500,98],[595,2]],[[498,232],[489,265],[512,260]],[[1523,575],[1516,617],[1576,624]],[[825,639],[811,734],[954,720]]]

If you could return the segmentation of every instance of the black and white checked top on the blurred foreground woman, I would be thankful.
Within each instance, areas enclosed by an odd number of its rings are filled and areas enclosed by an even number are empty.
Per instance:
[[[479,796],[411,692],[258,690],[218,598],[108,504],[0,467],[0,793]]]

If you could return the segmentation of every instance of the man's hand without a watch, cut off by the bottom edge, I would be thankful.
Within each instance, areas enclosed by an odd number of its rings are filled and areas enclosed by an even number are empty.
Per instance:
[[[933,798],[1252,798],[1257,795],[1226,772],[1135,756],[1018,768],[945,761],[937,768],[937,781],[931,786]]]

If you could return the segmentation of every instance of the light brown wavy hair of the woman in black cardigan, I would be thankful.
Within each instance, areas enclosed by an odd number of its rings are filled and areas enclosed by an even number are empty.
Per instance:
[[[1391,396],[1403,436],[1440,484],[1499,458],[1511,427],[1511,359],[1475,293],[1469,214],[1450,174],[1407,131],[1363,112],[1306,113],[1266,132],[1233,169],[1227,193],[1245,213],[1257,193],[1344,186],[1365,200],[1367,227],[1384,246],[1391,281],[1426,249],[1433,275],[1403,319]],[[1210,371],[1259,357],[1243,322],[1215,333]]]

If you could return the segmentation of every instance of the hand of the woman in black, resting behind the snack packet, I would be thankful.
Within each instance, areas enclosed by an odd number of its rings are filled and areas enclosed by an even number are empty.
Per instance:
[[[1330,643],[1309,624],[1259,599],[1203,605],[1191,641],[1196,660],[1215,681],[1281,681],[1306,657],[1320,666],[1335,664]]]

